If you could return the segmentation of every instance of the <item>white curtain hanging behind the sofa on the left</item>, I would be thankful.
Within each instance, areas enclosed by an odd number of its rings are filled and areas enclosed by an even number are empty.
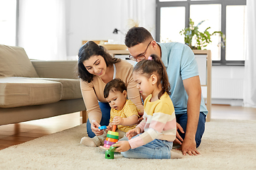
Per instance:
[[[67,60],[65,1],[19,1],[18,46],[30,59]]]

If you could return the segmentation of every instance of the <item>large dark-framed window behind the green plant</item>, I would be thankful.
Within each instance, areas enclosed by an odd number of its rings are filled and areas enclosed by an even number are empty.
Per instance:
[[[158,0],[156,1],[156,41],[182,42],[179,32],[189,25],[204,21],[199,30],[210,27],[210,33],[221,31],[226,36],[225,48],[220,36],[212,37],[207,46],[215,65],[245,64],[245,4],[246,0]]]

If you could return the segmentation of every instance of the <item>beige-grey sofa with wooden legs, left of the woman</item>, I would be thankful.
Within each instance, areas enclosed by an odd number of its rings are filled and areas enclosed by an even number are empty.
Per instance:
[[[0,45],[0,125],[85,113],[76,64],[29,60],[22,47]]]

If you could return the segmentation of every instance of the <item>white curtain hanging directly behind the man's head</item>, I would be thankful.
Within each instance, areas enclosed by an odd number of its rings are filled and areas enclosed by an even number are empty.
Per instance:
[[[142,26],[156,35],[156,1],[123,0],[121,3],[121,30],[127,33],[132,26]]]

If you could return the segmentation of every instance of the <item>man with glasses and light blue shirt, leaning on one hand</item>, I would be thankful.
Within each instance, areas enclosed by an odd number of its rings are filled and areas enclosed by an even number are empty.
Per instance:
[[[208,111],[201,94],[198,66],[191,48],[179,42],[158,43],[142,27],[129,29],[125,45],[131,60],[140,62],[153,54],[161,57],[169,76],[170,97],[176,113],[177,133],[174,143],[181,145],[183,155],[200,154],[196,148],[201,144]]]

